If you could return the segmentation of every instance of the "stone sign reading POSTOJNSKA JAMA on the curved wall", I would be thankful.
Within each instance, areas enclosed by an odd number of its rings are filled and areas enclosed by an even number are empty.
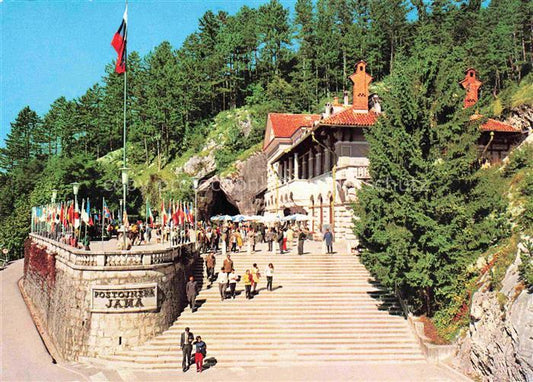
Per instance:
[[[91,296],[92,312],[125,313],[157,309],[157,283],[93,285]]]

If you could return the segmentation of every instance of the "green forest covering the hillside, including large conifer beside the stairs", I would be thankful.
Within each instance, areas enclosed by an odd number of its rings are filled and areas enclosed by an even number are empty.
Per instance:
[[[432,183],[361,191],[363,259],[386,285],[401,287],[414,310],[460,322],[473,279],[464,270],[513,240],[504,180],[520,172],[520,182],[531,182],[531,152],[513,173],[480,169],[479,130],[462,109],[459,81],[477,69],[476,110],[485,116],[531,105],[532,16],[527,0],[298,0],[294,9],[271,0],[236,14],[206,12],[180,47],[164,41],[140,56],[132,42],[128,211],[142,216],[146,201],[191,198],[190,176],[178,169],[214,132],[224,138],[217,172],[228,171],[260,149],[268,112],[320,112],[351,89],[348,76],[364,59],[386,114],[367,133],[373,179]],[[24,107],[11,123],[0,151],[0,247],[12,258],[22,256],[31,206],[49,202],[52,189],[58,200],[72,199],[77,181],[80,198],[105,197],[117,210],[123,96],[110,60],[85,94],[57,98],[44,115]],[[242,115],[251,121],[246,134]]]

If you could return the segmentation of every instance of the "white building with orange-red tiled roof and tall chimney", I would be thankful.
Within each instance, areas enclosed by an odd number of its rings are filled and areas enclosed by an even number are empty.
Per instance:
[[[352,207],[356,190],[370,180],[368,142],[364,129],[381,112],[370,101],[372,77],[360,61],[355,73],[353,101],[326,104],[322,115],[269,114],[263,150],[268,162],[265,214],[305,213],[317,236],[330,228],[337,239],[355,240]]]

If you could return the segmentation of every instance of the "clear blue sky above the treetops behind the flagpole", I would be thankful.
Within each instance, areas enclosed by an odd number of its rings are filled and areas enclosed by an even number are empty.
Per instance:
[[[178,48],[207,10],[234,14],[266,2],[130,0],[128,50],[144,55],[164,40]],[[281,3],[292,10],[296,0]],[[78,97],[101,80],[123,13],[124,1],[0,0],[0,146],[26,105],[43,115],[56,98]]]

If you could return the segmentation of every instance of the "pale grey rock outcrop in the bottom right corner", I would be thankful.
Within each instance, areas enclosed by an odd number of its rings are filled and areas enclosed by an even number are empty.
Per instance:
[[[464,372],[484,381],[533,381],[533,294],[519,280],[519,264],[518,254],[501,290],[490,290],[487,279],[472,299],[457,357]]]

